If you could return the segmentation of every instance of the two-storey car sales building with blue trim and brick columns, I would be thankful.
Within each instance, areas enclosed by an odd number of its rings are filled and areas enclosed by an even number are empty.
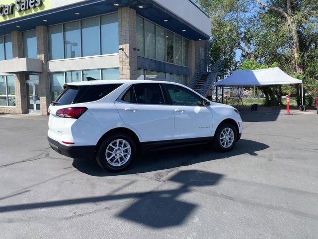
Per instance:
[[[191,0],[1,0],[0,113],[47,115],[64,84],[92,78],[188,85],[210,36]]]

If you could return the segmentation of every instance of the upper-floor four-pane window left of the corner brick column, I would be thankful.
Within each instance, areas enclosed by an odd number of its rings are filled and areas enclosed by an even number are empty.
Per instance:
[[[49,26],[49,59],[118,53],[118,30],[118,13]]]

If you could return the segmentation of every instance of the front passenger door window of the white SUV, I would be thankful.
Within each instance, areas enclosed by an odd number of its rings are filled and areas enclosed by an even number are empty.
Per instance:
[[[165,84],[167,94],[175,106],[202,106],[201,97],[180,86]]]

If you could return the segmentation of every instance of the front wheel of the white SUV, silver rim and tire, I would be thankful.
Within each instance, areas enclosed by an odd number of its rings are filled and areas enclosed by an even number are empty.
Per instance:
[[[238,134],[235,126],[231,123],[223,123],[215,132],[214,148],[221,152],[231,151],[236,142]]]

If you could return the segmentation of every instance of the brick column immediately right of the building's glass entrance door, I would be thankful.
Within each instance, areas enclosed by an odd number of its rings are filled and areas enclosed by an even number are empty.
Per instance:
[[[42,72],[39,73],[40,111],[42,116],[48,115],[50,106],[50,81],[47,69],[48,61],[48,32],[46,26],[36,27],[38,58],[42,60]]]

